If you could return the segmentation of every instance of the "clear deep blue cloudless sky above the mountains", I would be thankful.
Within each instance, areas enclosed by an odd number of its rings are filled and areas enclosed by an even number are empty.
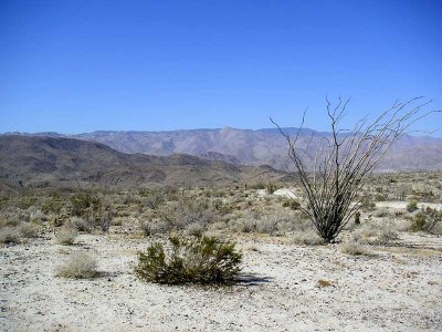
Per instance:
[[[442,108],[442,1],[0,0],[0,132],[324,131],[327,94]]]

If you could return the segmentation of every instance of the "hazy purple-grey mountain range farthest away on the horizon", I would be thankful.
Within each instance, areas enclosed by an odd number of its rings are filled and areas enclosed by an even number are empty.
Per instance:
[[[297,128],[283,128],[294,135]],[[21,134],[20,135],[30,135]],[[168,156],[188,154],[208,160],[222,160],[238,165],[270,165],[276,169],[291,166],[287,143],[277,128],[190,129],[171,132],[93,132],[78,135],[39,133],[36,136],[71,137],[103,143],[127,154]],[[302,129],[299,147],[306,147],[312,135],[330,135]],[[307,152],[307,164],[314,158],[315,144]],[[394,144],[382,159],[378,172],[442,169],[442,138],[406,135]]]

